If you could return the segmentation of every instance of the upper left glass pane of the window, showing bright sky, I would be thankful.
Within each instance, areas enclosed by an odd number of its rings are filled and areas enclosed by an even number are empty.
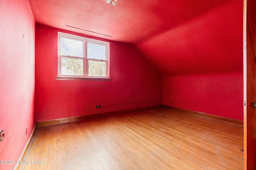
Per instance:
[[[84,41],[60,37],[60,55],[84,57]]]

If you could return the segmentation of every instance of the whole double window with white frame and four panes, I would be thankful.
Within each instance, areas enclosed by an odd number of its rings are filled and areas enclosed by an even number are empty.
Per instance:
[[[58,32],[58,77],[109,78],[109,43]]]

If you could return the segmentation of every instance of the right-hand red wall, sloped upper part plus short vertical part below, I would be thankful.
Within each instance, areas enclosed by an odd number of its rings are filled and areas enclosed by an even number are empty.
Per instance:
[[[163,76],[164,105],[243,120],[242,0],[223,1],[136,47]]]

